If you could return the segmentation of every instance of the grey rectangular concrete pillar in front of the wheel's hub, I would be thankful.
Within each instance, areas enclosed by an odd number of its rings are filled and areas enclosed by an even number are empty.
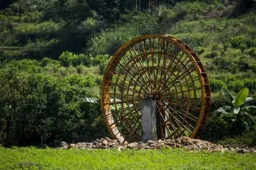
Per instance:
[[[141,101],[141,141],[156,140],[156,101]]]

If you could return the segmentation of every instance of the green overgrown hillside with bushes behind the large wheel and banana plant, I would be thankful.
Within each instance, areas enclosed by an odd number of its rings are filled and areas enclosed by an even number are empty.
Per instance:
[[[222,86],[232,94],[247,87],[248,105],[256,105],[254,0],[12,0],[0,4],[0,144],[108,136],[99,106],[81,98],[100,97],[111,56],[144,34],[177,37],[197,52],[212,111],[229,104]],[[254,122],[236,119],[239,126],[233,117],[212,115],[202,138],[244,135],[244,143],[256,145]]]

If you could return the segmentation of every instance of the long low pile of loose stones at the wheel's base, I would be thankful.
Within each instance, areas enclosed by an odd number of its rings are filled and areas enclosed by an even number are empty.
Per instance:
[[[196,151],[196,150],[208,150],[210,152],[224,152],[233,151],[238,153],[256,153],[256,149],[241,149],[241,148],[225,148],[222,145],[217,145],[212,142],[191,139],[189,137],[179,137],[176,140],[158,140],[147,142],[133,142],[133,143],[120,143],[118,140],[111,140],[108,137],[97,139],[93,142],[79,142],[76,144],[68,144],[66,142],[60,142],[60,148],[62,149],[111,149],[116,148],[121,151],[125,148],[137,149],[137,150],[149,150],[149,149],[162,149],[162,148],[185,148],[186,150]]]

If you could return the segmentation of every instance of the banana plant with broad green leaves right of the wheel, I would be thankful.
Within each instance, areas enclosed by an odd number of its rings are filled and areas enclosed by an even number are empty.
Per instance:
[[[247,97],[249,94],[249,90],[247,88],[243,88],[236,96],[233,96],[227,89],[224,87],[221,88],[222,94],[226,99],[232,104],[232,106],[224,106],[219,109],[211,112],[211,114],[221,113],[221,114],[229,114],[233,116],[233,122],[241,123],[243,117],[248,117],[253,124],[255,124],[255,119],[253,114],[256,114],[256,106],[248,106],[246,105],[248,101],[251,101],[252,97]],[[247,124],[247,122],[244,122]]]

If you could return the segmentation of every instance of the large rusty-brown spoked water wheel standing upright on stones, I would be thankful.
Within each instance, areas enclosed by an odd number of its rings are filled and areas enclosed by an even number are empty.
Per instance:
[[[210,109],[207,73],[197,54],[171,36],[145,35],[121,46],[102,81],[101,110],[111,136],[141,138],[141,100],[157,107],[157,139],[199,138]]]

